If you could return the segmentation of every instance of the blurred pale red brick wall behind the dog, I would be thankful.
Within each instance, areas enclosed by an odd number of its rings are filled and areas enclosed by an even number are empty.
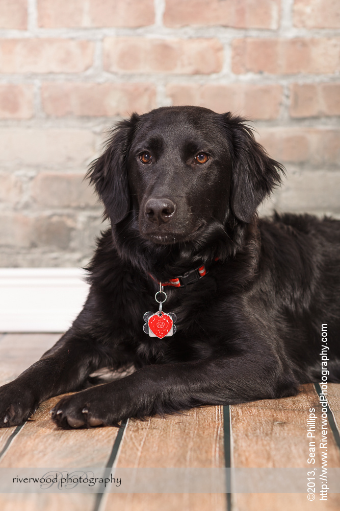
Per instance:
[[[263,207],[340,217],[338,0],[0,0],[1,266],[86,263],[82,179],[119,117],[231,110],[287,168]]]

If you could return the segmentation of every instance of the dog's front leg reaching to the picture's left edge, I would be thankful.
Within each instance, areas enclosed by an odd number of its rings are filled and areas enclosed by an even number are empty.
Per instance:
[[[41,401],[79,388],[101,362],[96,346],[90,336],[70,329],[38,362],[0,387],[0,427],[21,424]]]

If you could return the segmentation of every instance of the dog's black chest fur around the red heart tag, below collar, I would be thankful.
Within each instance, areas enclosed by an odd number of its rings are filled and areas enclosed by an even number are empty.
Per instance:
[[[131,345],[137,350],[141,364],[197,360],[212,355],[232,323],[225,310],[222,316],[220,312],[221,296],[225,296],[228,287],[226,267],[216,262],[194,284],[185,288],[165,287],[167,299],[163,310],[176,314],[177,332],[163,339],[149,337],[143,332],[143,316],[145,312],[158,311],[159,304],[154,298],[158,284],[151,275],[122,262],[110,237],[109,233],[103,237],[96,262],[91,266],[92,289],[97,294],[94,301],[96,305],[100,304],[97,314],[100,315],[102,329],[111,332],[111,336],[106,335],[106,343],[115,347],[121,343],[124,348]],[[103,265],[97,264],[99,259],[110,260],[105,270]],[[230,281],[229,287],[227,294],[233,301],[233,282]],[[225,300],[222,307],[224,305]],[[221,322],[225,323],[225,332],[221,331]]]

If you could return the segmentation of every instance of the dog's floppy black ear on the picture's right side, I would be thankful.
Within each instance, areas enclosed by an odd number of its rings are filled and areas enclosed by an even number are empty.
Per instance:
[[[245,119],[232,117],[230,112],[222,119],[232,162],[231,210],[236,218],[249,223],[259,204],[281,184],[280,173],[284,175],[285,169],[256,142]]]

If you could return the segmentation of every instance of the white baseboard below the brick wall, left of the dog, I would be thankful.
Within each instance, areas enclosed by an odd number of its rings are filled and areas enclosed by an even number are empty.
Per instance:
[[[89,285],[80,268],[0,268],[0,332],[65,332]]]

